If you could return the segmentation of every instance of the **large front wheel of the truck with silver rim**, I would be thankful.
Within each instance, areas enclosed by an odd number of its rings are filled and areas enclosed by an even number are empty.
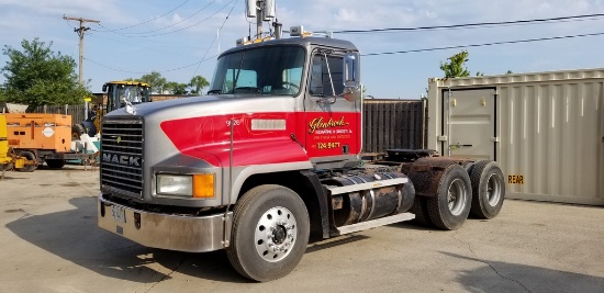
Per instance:
[[[276,280],[298,266],[309,234],[309,212],[295,192],[281,185],[256,187],[235,205],[226,255],[242,275]]]

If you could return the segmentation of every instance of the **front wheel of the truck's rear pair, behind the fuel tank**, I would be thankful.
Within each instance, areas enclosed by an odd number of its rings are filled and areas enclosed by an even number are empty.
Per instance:
[[[466,169],[451,165],[438,183],[438,194],[427,199],[432,223],[440,229],[454,230],[463,225],[472,203],[472,184]]]

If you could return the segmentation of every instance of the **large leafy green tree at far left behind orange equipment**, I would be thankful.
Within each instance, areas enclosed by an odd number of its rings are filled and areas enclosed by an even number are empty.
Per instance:
[[[51,49],[37,37],[23,40],[23,50],[8,45],[2,54],[9,57],[2,72],[7,102],[37,106],[42,104],[80,104],[91,93],[78,82],[76,61]]]

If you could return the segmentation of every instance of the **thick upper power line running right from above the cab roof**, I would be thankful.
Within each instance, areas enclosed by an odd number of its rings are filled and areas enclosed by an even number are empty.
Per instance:
[[[345,30],[334,31],[334,34],[361,34],[361,33],[382,33],[382,32],[411,32],[411,31],[434,31],[434,30],[451,30],[451,29],[469,29],[480,26],[496,26],[496,25],[514,25],[514,24],[534,24],[545,22],[559,22],[559,21],[577,21],[588,18],[601,18],[604,13],[573,15],[573,16],[560,16],[550,19],[535,19],[535,20],[518,20],[518,21],[504,21],[504,22],[479,22],[479,23],[466,23],[466,24],[452,24],[452,25],[435,25],[435,26],[418,26],[418,27],[390,27],[390,29],[372,29],[372,30]]]

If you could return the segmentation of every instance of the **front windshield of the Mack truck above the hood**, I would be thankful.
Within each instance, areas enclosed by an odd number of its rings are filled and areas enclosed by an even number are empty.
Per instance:
[[[295,95],[304,56],[299,46],[259,47],[222,56],[208,93]]]

